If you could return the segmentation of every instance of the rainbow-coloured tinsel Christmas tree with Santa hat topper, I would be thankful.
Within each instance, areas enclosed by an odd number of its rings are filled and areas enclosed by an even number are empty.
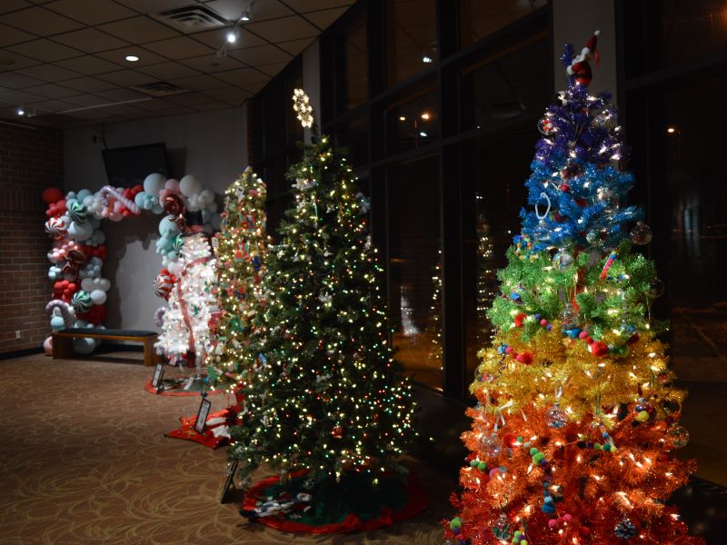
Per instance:
[[[499,273],[463,434],[471,454],[447,538],[471,544],[696,543],[668,505],[694,463],[672,451],[685,392],[657,329],[662,292],[636,251],[652,233],[625,206],[622,130],[608,94],[588,94],[595,35],[539,123],[522,233]]]

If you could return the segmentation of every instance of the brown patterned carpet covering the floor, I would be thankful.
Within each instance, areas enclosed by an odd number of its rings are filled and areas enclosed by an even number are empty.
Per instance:
[[[393,529],[300,536],[247,523],[237,501],[220,504],[224,449],[164,437],[196,411],[196,397],[144,391],[140,354],[0,362],[0,543],[3,545],[442,543],[455,483],[411,461],[430,507]],[[212,396],[213,411],[224,408]],[[261,472],[260,477],[264,476]]]

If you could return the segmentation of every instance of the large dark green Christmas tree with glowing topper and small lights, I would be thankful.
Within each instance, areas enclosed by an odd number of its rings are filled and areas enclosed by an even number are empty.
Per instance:
[[[307,96],[294,98],[310,127]],[[229,454],[243,478],[263,463],[281,472],[281,484],[302,471],[316,504],[308,517],[346,518],[346,505],[358,502],[358,516],[373,509],[375,518],[377,486],[402,481],[395,471],[413,436],[411,385],[393,361],[382,269],[351,166],[315,129],[313,142],[288,174],[294,205],[267,253],[270,300],[253,318],[245,352],[255,367]]]

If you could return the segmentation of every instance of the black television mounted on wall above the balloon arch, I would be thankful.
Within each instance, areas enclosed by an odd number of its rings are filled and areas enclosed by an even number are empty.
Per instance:
[[[151,173],[169,177],[164,143],[107,149],[102,154],[108,183],[115,187],[134,187]]]

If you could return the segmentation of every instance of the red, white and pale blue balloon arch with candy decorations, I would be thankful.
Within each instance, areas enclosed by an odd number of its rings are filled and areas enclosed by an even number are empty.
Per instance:
[[[156,241],[156,253],[162,256],[163,268],[154,284],[156,295],[163,299],[168,298],[179,272],[177,260],[183,244],[184,210],[200,211],[207,232],[219,227],[213,190],[191,174],[177,181],[151,173],[144,184],[130,188],[105,185],[95,193],[82,189],[64,195],[60,189],[49,187],[43,192],[43,200],[48,205],[45,233],[53,239],[53,248],[47,253],[52,263],[48,278],[53,282],[53,295],[45,306],[53,331],[104,327],[106,292],[111,282],[102,276],[106,257],[103,220],[120,222],[144,211],[165,213]],[[163,308],[154,313],[157,324],[162,314]],[[75,339],[75,352],[93,352],[98,342],[91,338]],[[43,346],[50,353],[52,338],[45,339]]]

